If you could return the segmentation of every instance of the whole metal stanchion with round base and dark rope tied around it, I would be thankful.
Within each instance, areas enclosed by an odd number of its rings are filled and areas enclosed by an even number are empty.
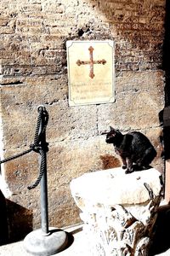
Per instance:
[[[28,186],[28,189],[34,189],[40,183],[41,195],[41,223],[42,228],[33,230],[24,239],[24,247],[27,253],[31,255],[54,255],[64,250],[67,246],[68,237],[64,230],[48,227],[48,177],[47,177],[47,152],[48,143],[46,142],[46,127],[48,125],[48,112],[44,106],[37,108],[37,127],[34,142],[30,148],[21,154],[16,154],[8,159],[0,161],[0,164],[8,160],[14,160],[31,151],[40,154],[40,168],[37,180]]]

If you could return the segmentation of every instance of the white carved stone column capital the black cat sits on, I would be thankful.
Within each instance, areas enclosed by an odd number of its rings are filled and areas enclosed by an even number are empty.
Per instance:
[[[90,172],[71,181],[91,255],[146,256],[161,201],[156,169],[125,174],[122,168]]]

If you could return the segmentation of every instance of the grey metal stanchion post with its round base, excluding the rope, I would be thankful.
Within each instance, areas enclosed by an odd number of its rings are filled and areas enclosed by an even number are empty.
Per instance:
[[[41,109],[42,108],[42,109]],[[43,106],[38,107],[38,110],[45,110]],[[67,246],[67,235],[64,230],[56,228],[48,228],[48,179],[47,179],[47,146],[46,134],[42,132],[44,119],[41,120],[39,134],[40,140],[40,169],[43,171],[41,179],[41,230],[33,230],[24,240],[26,252],[31,255],[49,256],[54,253],[59,253]],[[43,166],[43,170],[42,170]]]

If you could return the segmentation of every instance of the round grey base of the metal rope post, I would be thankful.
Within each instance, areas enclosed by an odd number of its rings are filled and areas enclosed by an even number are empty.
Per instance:
[[[27,253],[39,256],[49,256],[59,253],[67,246],[68,237],[63,230],[49,228],[49,233],[44,234],[42,230],[34,230],[24,240]]]

